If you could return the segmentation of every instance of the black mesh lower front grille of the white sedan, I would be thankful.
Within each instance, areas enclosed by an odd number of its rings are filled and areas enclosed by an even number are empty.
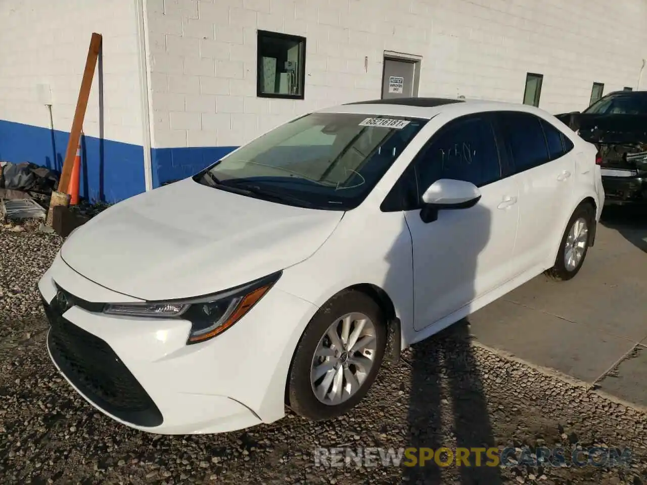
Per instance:
[[[162,414],[137,379],[104,340],[63,318],[54,302],[43,301],[50,322],[47,338],[61,372],[107,413],[137,426],[162,424]]]

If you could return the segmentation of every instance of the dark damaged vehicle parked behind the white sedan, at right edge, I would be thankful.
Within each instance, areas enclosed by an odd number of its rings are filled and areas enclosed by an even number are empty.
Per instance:
[[[606,204],[647,202],[647,91],[611,92],[556,116],[598,147]]]

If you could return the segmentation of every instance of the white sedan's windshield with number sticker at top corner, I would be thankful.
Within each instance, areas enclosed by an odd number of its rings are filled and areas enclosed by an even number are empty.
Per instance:
[[[194,180],[325,210],[358,206],[427,120],[311,113],[240,147]]]

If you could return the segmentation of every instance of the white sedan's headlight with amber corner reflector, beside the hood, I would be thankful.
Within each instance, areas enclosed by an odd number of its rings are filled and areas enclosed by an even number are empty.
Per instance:
[[[281,272],[274,273],[247,285],[190,300],[111,303],[105,305],[104,313],[188,320],[192,325],[186,343],[198,343],[214,338],[243,318],[280,276]]]

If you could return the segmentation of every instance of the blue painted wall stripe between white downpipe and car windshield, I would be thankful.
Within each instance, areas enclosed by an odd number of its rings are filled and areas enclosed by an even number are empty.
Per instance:
[[[237,147],[153,148],[153,187],[191,177]]]

